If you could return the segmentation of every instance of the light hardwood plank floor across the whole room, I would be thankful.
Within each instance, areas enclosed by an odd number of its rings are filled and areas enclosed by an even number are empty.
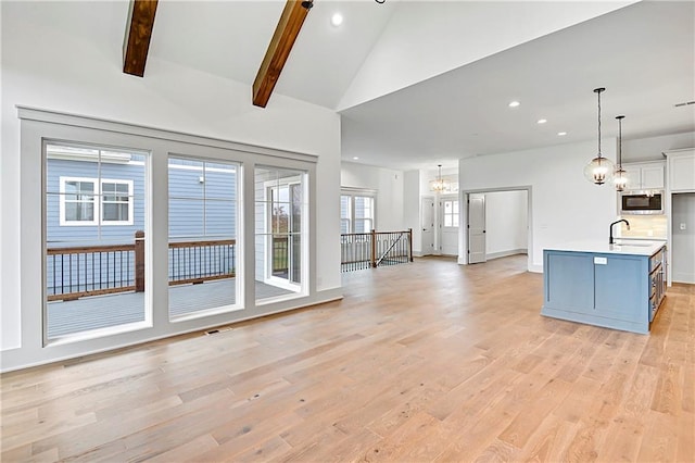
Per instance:
[[[5,374],[2,461],[695,460],[695,286],[649,336],[539,315],[526,258]]]

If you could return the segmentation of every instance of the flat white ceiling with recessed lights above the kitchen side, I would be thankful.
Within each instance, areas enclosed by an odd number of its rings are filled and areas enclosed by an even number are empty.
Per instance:
[[[343,160],[431,168],[595,140],[596,87],[604,137],[618,114],[626,139],[695,130],[695,104],[673,107],[695,100],[694,29],[694,2],[640,2],[350,108]]]

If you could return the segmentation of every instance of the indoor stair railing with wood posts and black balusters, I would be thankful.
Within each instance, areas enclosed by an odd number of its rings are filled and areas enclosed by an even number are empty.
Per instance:
[[[413,229],[342,234],[340,254],[342,272],[413,262]]]

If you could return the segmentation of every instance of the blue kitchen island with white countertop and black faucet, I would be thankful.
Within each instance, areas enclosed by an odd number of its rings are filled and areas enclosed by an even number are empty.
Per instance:
[[[543,309],[554,318],[648,334],[666,292],[664,242],[569,242],[543,251]]]

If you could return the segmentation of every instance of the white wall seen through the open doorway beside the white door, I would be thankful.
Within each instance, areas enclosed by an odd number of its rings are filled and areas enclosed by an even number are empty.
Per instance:
[[[528,192],[485,193],[485,253],[488,259],[527,249]]]

